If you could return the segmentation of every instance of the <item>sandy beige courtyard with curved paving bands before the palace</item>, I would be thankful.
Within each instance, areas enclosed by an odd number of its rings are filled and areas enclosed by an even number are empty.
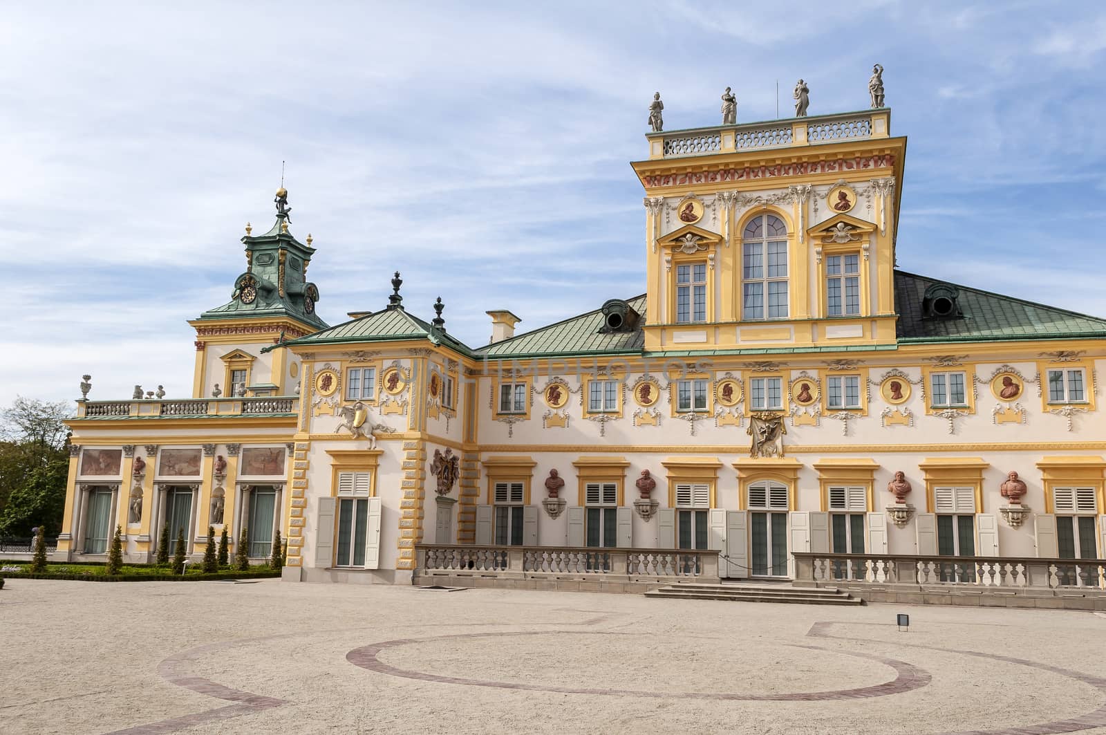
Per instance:
[[[279,580],[0,590],[0,733],[270,732],[1106,733],[1106,617]]]

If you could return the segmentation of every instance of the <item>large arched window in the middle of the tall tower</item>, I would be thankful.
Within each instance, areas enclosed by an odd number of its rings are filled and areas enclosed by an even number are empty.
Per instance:
[[[760,215],[742,235],[744,319],[787,318],[787,228],[773,215]]]

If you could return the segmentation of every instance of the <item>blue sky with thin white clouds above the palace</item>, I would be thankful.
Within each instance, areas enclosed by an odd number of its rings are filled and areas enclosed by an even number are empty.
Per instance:
[[[919,8],[921,6],[921,8]],[[1106,315],[1100,3],[4,4],[0,405],[191,391],[185,320],[225,303],[288,162],[331,323],[438,296],[487,341],[644,291],[666,130],[867,106],[909,136],[899,266]]]

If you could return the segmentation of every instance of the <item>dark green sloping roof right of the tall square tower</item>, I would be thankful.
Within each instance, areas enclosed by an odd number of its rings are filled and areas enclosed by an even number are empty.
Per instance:
[[[1106,338],[1106,320],[954,283],[952,286],[959,290],[957,303],[963,318],[925,318],[921,302],[926,289],[946,282],[895,271],[899,342]]]

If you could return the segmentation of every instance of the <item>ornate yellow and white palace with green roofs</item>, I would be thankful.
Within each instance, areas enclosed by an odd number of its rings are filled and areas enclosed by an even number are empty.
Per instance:
[[[1003,584],[1070,559],[1100,587],[1077,561],[1106,556],[1106,320],[897,269],[890,118],[647,134],[643,292],[518,334],[488,311],[482,346],[399,273],[321,321],[282,189],[231,300],[189,322],[191,397],[77,403],[59,553],[102,559],[118,525],[129,561],[180,529],[198,557],[211,526],[258,562],[279,529],[293,581],[873,580],[909,557]]]

